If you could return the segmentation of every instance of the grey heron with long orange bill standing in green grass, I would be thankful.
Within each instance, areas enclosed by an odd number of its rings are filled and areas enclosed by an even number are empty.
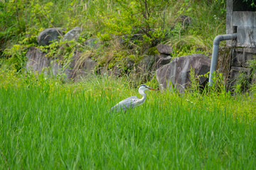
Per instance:
[[[151,88],[150,86],[146,86],[145,84],[142,84],[139,86],[139,94],[142,95],[142,98],[138,98],[137,96],[131,96],[129,98],[125,98],[124,100],[117,103],[115,106],[113,106],[110,110],[111,111],[121,111],[124,110],[124,112],[127,111],[128,108],[134,108],[136,106],[141,105],[146,100],[146,90],[153,90],[158,91],[156,89]]]

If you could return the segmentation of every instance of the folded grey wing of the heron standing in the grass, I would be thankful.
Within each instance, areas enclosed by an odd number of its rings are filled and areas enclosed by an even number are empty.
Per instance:
[[[114,107],[111,108],[111,111],[120,111],[123,109],[127,111],[128,108],[134,108],[135,103],[139,100],[137,96],[131,96],[129,98],[125,98],[124,100],[117,103]]]

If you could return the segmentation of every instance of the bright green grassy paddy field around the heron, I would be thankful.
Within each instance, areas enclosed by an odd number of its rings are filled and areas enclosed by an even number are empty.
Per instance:
[[[0,74],[0,169],[255,169],[255,96],[146,91],[95,77]],[[154,88],[154,84],[147,84]]]

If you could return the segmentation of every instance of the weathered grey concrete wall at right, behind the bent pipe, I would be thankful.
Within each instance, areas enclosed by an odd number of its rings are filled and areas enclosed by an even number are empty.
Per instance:
[[[252,70],[248,68],[250,60],[254,60],[256,55],[256,13],[255,11],[241,11],[243,7],[241,8],[240,5],[246,5],[241,1],[227,0],[226,33],[238,34],[236,41],[226,42],[228,47],[233,47],[229,75],[231,89],[241,72],[244,72],[252,83],[255,83],[253,79],[256,79],[255,76],[251,76]]]

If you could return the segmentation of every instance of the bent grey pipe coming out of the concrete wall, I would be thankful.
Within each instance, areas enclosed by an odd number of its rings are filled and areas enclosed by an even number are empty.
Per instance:
[[[212,60],[210,62],[210,77],[209,77],[209,86],[213,86],[213,72],[216,71],[217,61],[218,61],[218,50],[220,41],[222,40],[235,40],[237,38],[237,34],[225,34],[225,35],[217,35],[213,40],[213,55]]]

